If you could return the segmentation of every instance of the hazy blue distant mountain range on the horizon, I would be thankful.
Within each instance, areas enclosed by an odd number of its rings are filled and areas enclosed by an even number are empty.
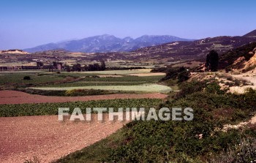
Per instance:
[[[99,52],[118,52],[118,51],[132,51],[138,48],[148,46],[161,45],[167,42],[176,41],[193,41],[195,39],[183,39],[170,35],[143,35],[137,39],[132,37],[125,37],[120,39],[113,35],[104,34],[95,37],[87,37],[84,39],[71,40],[58,43],[49,43],[39,45],[34,48],[27,48],[24,51],[34,53],[37,51],[64,49],[70,52],[86,52],[86,53],[99,53]]]

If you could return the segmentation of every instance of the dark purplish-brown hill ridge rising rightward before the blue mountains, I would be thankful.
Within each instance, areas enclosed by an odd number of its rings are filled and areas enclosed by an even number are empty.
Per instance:
[[[154,45],[145,48],[138,48],[129,52],[108,52],[91,53],[83,59],[94,60],[125,60],[125,61],[184,61],[197,60],[205,61],[206,54],[210,50],[217,50],[222,55],[229,50],[256,42],[256,30],[251,31],[244,36],[228,37],[208,37],[197,39],[195,41],[176,41],[168,42],[162,45]]]

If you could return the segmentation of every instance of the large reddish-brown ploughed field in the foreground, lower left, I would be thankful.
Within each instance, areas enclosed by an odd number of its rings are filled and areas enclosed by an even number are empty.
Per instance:
[[[92,115],[96,119],[96,115]],[[0,118],[0,162],[51,162],[108,137],[127,121],[58,121],[57,115]]]

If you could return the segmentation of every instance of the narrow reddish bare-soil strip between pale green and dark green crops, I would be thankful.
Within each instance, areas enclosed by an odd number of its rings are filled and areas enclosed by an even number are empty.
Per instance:
[[[20,91],[0,91],[0,104],[32,104],[45,102],[77,102],[101,99],[165,99],[165,94],[108,94],[95,96],[41,96]]]

